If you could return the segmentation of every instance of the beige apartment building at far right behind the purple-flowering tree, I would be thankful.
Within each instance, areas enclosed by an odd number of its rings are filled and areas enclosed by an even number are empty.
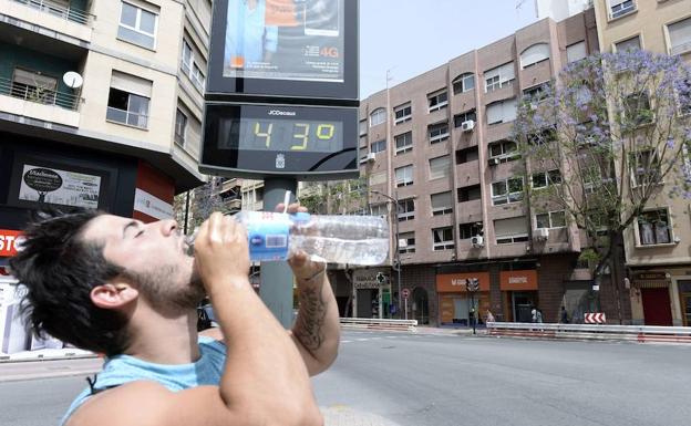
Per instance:
[[[596,0],[594,6],[600,51],[643,49],[691,62],[691,1]],[[689,326],[690,205],[688,199],[670,198],[673,183],[666,184],[626,232],[625,285],[630,289],[635,324]],[[654,229],[649,229],[651,217],[661,218]]]

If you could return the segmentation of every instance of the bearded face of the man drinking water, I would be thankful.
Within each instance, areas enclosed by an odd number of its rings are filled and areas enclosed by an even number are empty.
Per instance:
[[[84,240],[102,242],[106,260],[125,269],[146,301],[157,310],[177,312],[195,308],[204,297],[194,273],[194,258],[175,220],[144,224],[101,215],[86,226]]]

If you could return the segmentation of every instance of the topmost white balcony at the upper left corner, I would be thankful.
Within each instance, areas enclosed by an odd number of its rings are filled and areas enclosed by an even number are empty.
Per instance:
[[[50,0],[0,0],[0,10],[3,14],[17,19],[14,25],[24,30],[62,39],[63,41],[79,44],[91,42],[92,24],[94,17],[84,10],[73,7],[64,7]],[[49,30],[49,31],[45,31]],[[53,31],[54,34],[51,34]],[[75,40],[64,40],[68,35]]]

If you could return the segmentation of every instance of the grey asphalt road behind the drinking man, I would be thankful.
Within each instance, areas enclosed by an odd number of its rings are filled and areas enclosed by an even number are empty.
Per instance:
[[[91,362],[0,365],[0,425],[55,425]],[[685,426],[690,364],[691,346],[349,331],[313,383],[329,426]]]

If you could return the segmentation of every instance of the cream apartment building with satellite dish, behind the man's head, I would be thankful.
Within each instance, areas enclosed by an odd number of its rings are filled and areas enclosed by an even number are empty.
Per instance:
[[[204,180],[210,14],[210,0],[0,0],[0,232],[43,201],[172,217]]]

